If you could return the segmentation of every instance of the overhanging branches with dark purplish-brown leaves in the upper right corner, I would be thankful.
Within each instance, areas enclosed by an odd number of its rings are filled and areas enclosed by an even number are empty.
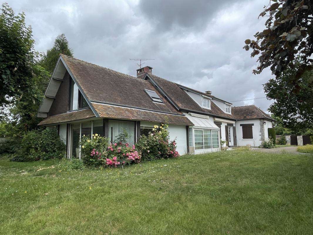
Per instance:
[[[294,66],[296,55],[300,55],[302,64],[291,83],[296,83],[303,71],[312,68],[312,7],[310,0],[271,0],[268,6],[264,6],[259,17],[268,17],[266,29],[254,35],[256,40],[247,39],[244,46],[246,50],[253,50],[251,57],[261,53],[254,74],[270,66],[272,73],[279,76],[287,67]],[[295,91],[298,90],[296,87]]]

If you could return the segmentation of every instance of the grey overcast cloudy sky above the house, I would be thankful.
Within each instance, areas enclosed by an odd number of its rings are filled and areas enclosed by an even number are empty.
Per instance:
[[[132,76],[137,67],[130,58],[155,59],[145,64],[153,74],[229,102],[265,97],[262,84],[272,77],[269,70],[252,74],[257,59],[242,49],[264,29],[258,15],[269,0],[7,2],[25,11],[41,52],[64,33],[78,59]],[[271,103],[264,98],[233,106],[265,111]]]

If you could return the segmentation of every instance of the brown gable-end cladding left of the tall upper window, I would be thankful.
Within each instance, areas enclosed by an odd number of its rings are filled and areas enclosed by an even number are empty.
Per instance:
[[[55,99],[49,110],[49,116],[66,113],[68,111],[70,79],[71,76],[66,71],[63,81],[61,82],[59,90],[55,95]]]

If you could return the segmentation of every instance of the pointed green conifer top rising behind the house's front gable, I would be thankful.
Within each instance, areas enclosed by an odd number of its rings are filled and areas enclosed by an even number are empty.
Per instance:
[[[73,50],[69,48],[69,42],[65,34],[60,34],[55,40],[51,49],[47,50],[39,61],[39,64],[50,73],[53,72],[54,67],[59,59],[59,55],[64,54],[73,57]]]

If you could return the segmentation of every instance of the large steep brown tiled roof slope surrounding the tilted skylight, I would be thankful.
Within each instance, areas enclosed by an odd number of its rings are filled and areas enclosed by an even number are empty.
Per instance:
[[[61,55],[90,102],[98,101],[153,111],[181,113],[148,81]],[[152,102],[145,89],[156,91],[163,103]]]

